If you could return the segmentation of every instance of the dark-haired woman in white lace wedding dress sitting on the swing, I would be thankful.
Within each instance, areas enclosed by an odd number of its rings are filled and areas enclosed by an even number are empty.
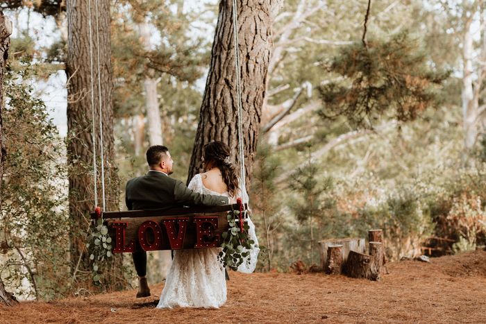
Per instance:
[[[201,194],[228,196],[230,203],[238,197],[248,203],[248,195],[241,192],[236,169],[230,160],[230,148],[223,142],[211,142],[203,148],[205,173],[192,178],[189,189]],[[238,271],[252,273],[255,270],[258,240],[255,225],[247,219],[249,238],[255,241],[250,251],[250,262],[244,262]],[[218,261],[221,248],[194,248],[174,251],[174,260],[167,274],[158,308],[206,307],[218,308],[226,302],[224,268]]]

